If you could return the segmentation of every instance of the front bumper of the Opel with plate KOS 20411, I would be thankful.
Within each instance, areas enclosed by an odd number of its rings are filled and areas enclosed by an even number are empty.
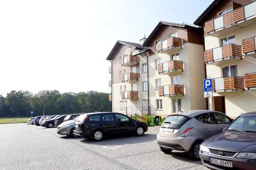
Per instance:
[[[243,159],[243,158],[236,158],[236,157],[222,157],[210,153],[205,153],[202,151],[199,152],[199,156],[202,160],[202,163],[205,167],[210,169],[216,169],[216,170],[225,170],[225,169],[256,169],[256,160],[253,159]],[[226,160],[232,162],[233,168],[227,168],[225,166],[215,165],[211,164],[209,162],[209,157]]]

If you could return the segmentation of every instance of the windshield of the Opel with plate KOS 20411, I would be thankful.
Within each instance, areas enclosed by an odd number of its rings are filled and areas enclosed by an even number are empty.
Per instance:
[[[256,115],[242,115],[227,129],[228,131],[256,132]]]

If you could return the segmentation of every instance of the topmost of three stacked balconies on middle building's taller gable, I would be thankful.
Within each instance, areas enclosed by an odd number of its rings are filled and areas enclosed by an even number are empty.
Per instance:
[[[179,37],[170,37],[157,43],[157,52],[170,53],[182,48],[183,41]]]

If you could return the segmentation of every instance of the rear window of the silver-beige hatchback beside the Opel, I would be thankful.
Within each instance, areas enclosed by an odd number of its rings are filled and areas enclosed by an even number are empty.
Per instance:
[[[175,128],[175,129],[180,129],[190,118],[187,116],[182,116],[182,115],[170,115],[168,116],[162,126],[166,127],[168,126],[169,128]]]

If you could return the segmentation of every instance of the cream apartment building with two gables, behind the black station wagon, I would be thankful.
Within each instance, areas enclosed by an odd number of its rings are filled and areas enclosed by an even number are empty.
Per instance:
[[[140,43],[117,41],[111,61],[112,109],[166,116],[206,109],[203,29],[160,21]]]

